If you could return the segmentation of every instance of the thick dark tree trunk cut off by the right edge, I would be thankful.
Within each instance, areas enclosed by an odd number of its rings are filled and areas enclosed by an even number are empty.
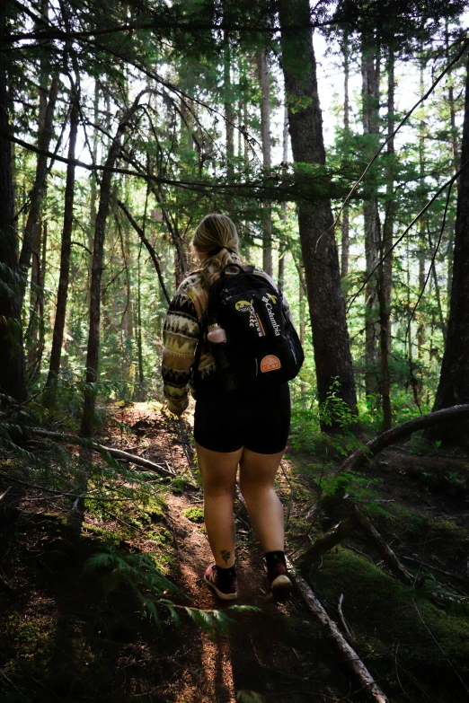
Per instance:
[[[469,56],[469,55],[468,55]],[[469,58],[465,78],[465,117],[461,163],[469,162]],[[469,164],[457,191],[453,286],[447,323],[447,345],[441,365],[435,410],[469,402]],[[440,427],[446,441],[469,442],[469,422],[460,419]]]

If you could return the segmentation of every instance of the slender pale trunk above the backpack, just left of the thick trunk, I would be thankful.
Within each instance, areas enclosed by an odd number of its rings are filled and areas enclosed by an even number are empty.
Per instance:
[[[256,55],[257,72],[261,83],[261,137],[262,161],[268,172],[272,163],[270,155],[270,66],[267,50]],[[264,200],[262,207],[262,268],[272,276],[272,214],[270,203]]]

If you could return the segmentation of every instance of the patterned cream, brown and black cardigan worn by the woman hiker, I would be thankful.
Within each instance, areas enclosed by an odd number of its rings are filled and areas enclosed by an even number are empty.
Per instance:
[[[264,271],[254,269],[254,273],[267,278],[270,284],[278,287]],[[288,317],[291,312],[284,297]],[[168,408],[181,415],[189,405],[191,369],[195,361],[197,345],[200,341],[199,320],[208,307],[208,292],[201,286],[200,271],[185,278],[179,286],[168,308],[163,330],[162,375],[164,398]],[[206,378],[215,372],[215,360],[207,348],[202,347],[199,357],[199,376]]]

